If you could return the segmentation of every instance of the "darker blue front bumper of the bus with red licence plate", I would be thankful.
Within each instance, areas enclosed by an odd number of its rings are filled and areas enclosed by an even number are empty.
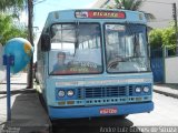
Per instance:
[[[122,105],[83,106],[83,108],[48,106],[48,113],[51,120],[125,115],[125,114],[150,112],[152,110],[154,110],[154,102],[122,104]]]

